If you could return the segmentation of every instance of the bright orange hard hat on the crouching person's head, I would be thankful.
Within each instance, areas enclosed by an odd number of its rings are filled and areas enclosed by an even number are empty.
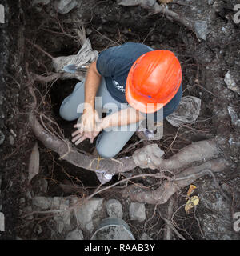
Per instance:
[[[165,106],[182,82],[178,58],[170,50],[153,50],[140,56],[126,79],[126,101],[143,113]],[[158,103],[158,104],[157,104]]]

